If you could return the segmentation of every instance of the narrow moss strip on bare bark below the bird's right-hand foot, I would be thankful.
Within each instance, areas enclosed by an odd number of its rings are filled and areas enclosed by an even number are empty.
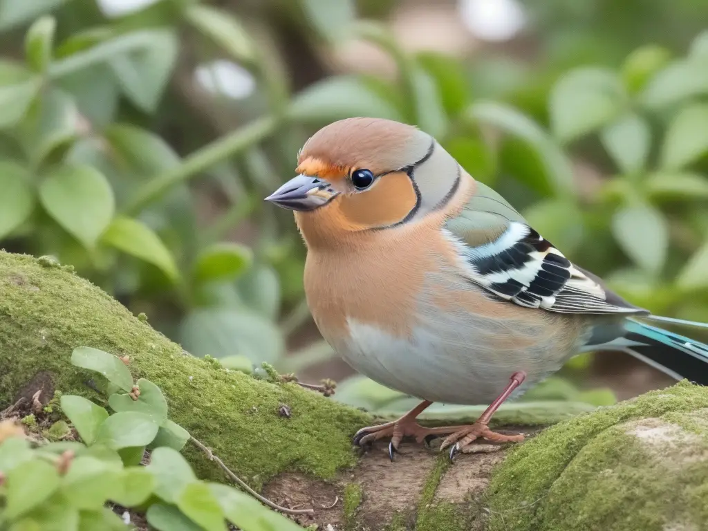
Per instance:
[[[450,468],[450,458],[447,452],[438,456],[438,462],[430,471],[430,475],[423,486],[421,501],[418,505],[418,518],[416,531],[464,531],[464,515],[459,506],[453,503],[434,503],[435,493],[438,491],[440,480]]]

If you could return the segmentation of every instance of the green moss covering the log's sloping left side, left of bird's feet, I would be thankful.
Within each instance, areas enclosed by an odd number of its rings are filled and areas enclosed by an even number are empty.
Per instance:
[[[186,355],[90,282],[0,251],[0,409],[40,371],[66,394],[98,398],[84,384],[93,375],[70,363],[79,346],[130,355],[134,377],[162,389],[173,421],[254,486],[288,469],[333,477],[355,463],[350,437],[371,421],[296,384],[258,381]],[[281,403],[291,418],[278,416]],[[221,477],[190,445],[185,455],[200,476]]]

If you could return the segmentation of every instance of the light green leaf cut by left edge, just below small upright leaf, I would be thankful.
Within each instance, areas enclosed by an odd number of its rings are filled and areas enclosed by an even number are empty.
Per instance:
[[[27,69],[0,61],[0,130],[14,127],[24,118],[41,84],[40,77]]]

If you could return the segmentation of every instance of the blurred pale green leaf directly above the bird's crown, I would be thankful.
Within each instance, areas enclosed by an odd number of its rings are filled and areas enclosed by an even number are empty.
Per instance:
[[[290,103],[290,117],[304,122],[333,122],[368,116],[401,121],[394,106],[355,76],[334,76],[310,85]]]

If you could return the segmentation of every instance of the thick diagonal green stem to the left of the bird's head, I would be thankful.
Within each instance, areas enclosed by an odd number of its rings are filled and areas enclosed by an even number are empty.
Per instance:
[[[159,199],[170,188],[209,169],[219,161],[261,142],[265,137],[271,135],[277,126],[278,121],[275,118],[264,116],[201,147],[187,156],[180,166],[164,171],[142,185],[132,200],[125,205],[125,213],[127,215],[137,214],[149,203]]]

